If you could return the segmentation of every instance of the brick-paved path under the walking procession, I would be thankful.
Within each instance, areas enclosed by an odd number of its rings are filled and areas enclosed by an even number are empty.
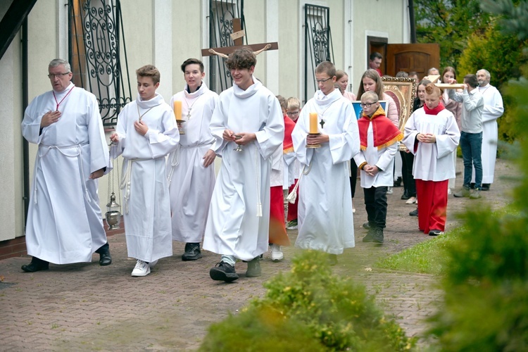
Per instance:
[[[463,170],[461,160],[458,170]],[[515,166],[498,160],[496,182],[482,192],[484,199],[448,201],[447,230],[458,224],[455,213],[465,206],[488,203],[497,209],[508,203]],[[457,177],[457,184],[462,176]],[[389,215],[382,246],[363,244],[366,221],[363,191],[356,191],[356,248],[339,257],[334,272],[363,282],[386,313],[393,315],[408,336],[424,337],[424,319],[439,308],[442,292],[435,287],[439,277],[381,270],[375,263],[382,256],[398,253],[429,236],[417,230],[414,206],[400,199],[402,188],[389,195]],[[294,241],[296,231],[289,231]],[[127,258],[125,235],[108,238],[113,264],[50,265],[50,270],[25,273],[20,266],[29,257],[0,260],[0,350],[2,351],[192,351],[198,348],[210,323],[236,314],[251,298],[264,293],[263,282],[290,268],[298,251],[285,248],[286,259],[272,263],[269,253],[261,265],[263,276],[246,278],[245,263],[237,263],[240,279],[232,284],[214,282],[208,271],[219,260],[214,253],[182,262],[184,244],[174,243],[174,256],[159,261],[151,275],[131,277],[135,260]]]

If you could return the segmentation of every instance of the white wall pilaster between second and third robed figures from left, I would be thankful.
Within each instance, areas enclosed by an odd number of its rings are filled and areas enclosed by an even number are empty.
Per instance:
[[[152,6],[152,64],[161,73],[157,92],[168,102],[172,96],[172,1],[154,0]]]

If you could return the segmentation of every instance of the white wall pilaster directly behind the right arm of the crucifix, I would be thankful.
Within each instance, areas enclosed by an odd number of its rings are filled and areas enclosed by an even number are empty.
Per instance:
[[[279,41],[279,0],[266,0],[266,42]],[[279,43],[280,44],[280,43]],[[280,50],[280,46],[279,46]],[[275,95],[279,92],[279,53],[266,51],[266,87]]]

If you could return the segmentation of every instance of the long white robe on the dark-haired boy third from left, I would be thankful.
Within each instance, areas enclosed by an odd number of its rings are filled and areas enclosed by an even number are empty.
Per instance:
[[[172,239],[198,243],[206,230],[210,198],[215,187],[215,164],[204,168],[203,156],[215,141],[209,123],[218,104],[218,94],[202,81],[193,93],[189,93],[186,84],[182,92],[172,96],[170,106],[174,106],[177,100],[182,101],[185,134],[180,134],[180,146],[170,153],[167,161]],[[187,118],[189,112],[190,118]]]

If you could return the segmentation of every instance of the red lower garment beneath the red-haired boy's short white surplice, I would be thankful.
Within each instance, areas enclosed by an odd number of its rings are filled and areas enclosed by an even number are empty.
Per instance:
[[[444,231],[446,227],[447,184],[448,180],[416,180],[418,228],[425,234],[430,230]]]

